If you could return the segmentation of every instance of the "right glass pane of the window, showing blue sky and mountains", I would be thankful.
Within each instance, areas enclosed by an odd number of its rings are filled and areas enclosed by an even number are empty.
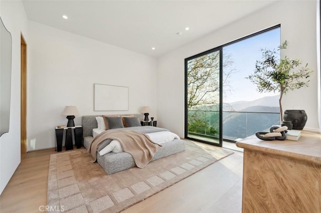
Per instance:
[[[260,49],[277,49],[280,27],[260,32],[223,46],[232,66],[223,59],[223,140],[238,141],[257,131],[280,123],[279,94],[261,93],[247,76],[255,71],[256,61],[262,60]],[[279,58],[277,58],[279,59]]]

